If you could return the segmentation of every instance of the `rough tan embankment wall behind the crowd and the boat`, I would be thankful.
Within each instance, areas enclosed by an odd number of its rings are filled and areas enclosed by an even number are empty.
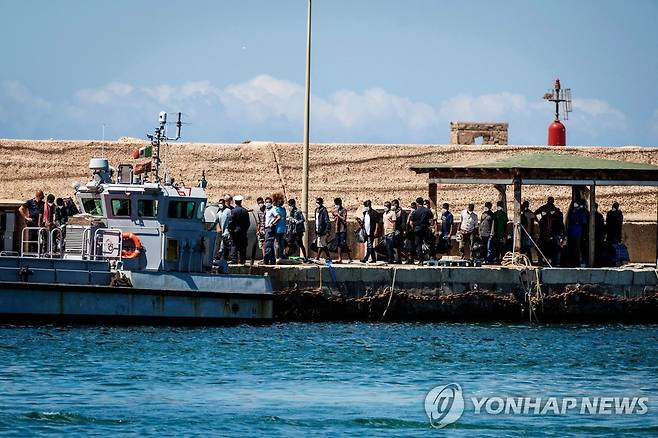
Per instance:
[[[146,145],[135,139],[114,142],[65,140],[0,140],[0,199],[27,199],[42,189],[56,196],[73,193],[72,185],[88,179],[92,157],[106,155],[113,166],[135,163],[133,149]],[[310,196],[331,203],[340,196],[350,210],[365,199],[374,205],[399,198],[408,205],[417,196],[427,196],[426,175],[409,170],[412,164],[482,162],[517,153],[545,149],[541,146],[455,146],[313,144],[310,148]],[[569,147],[573,153],[591,157],[658,165],[658,148]],[[211,200],[226,193],[245,196],[247,204],[258,196],[283,191],[287,197],[301,195],[302,146],[291,143],[249,144],[172,143],[163,147],[167,172],[177,181],[196,185],[205,171]],[[539,206],[549,195],[566,210],[568,187],[524,187],[523,198]],[[511,187],[508,200],[512,199]],[[656,189],[601,187],[597,189],[602,211],[613,201],[621,204],[627,219],[655,220]],[[496,201],[488,186],[439,186],[439,200],[460,211],[469,202],[477,205]],[[510,206],[511,207],[511,206]]]

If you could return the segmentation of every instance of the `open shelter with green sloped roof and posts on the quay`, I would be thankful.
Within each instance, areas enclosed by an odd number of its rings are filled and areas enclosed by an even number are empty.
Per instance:
[[[429,197],[437,203],[439,184],[492,184],[503,200],[507,185],[514,187],[514,251],[521,246],[521,187],[523,185],[571,186],[575,197],[582,188],[589,188],[589,261],[593,263],[594,208],[596,186],[656,186],[658,166],[646,163],[606,160],[567,151],[518,153],[510,157],[481,163],[428,163],[412,165],[417,174],[428,174]],[[657,198],[658,199],[658,198]],[[656,212],[658,218],[658,211]],[[658,233],[657,233],[658,234]],[[656,236],[658,265],[658,235]]]

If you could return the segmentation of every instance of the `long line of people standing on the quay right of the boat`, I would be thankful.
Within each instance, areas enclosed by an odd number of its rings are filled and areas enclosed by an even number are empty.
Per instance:
[[[223,236],[220,256],[245,263],[249,215],[241,205],[241,197],[235,197],[235,207],[229,204],[231,199],[227,195],[220,200],[216,221]],[[398,199],[384,202],[383,209],[376,209],[370,200],[365,200],[355,218],[358,226],[352,236],[348,235],[347,209],[341,198],[333,201],[333,205],[326,206],[323,198],[316,198],[314,227],[307,248],[304,245],[307,219],[295,199],[289,199],[286,208],[283,194],[258,198],[256,234],[264,263],[280,263],[298,251],[304,262],[310,262],[312,254],[319,261],[332,259],[334,253],[337,254],[333,263],[343,263],[345,257],[347,262],[352,262],[351,239],[363,244],[362,263],[422,264],[450,254],[453,242],[457,242],[462,259],[498,264],[512,249],[512,227],[503,201],[498,201],[495,209],[492,202],[485,202],[480,213],[475,211],[475,204],[468,204],[458,214],[456,223],[448,203],[437,212],[428,199],[421,197],[408,208],[402,208]],[[553,197],[536,210],[530,208],[528,201],[521,207],[521,251],[533,263],[553,266],[588,263],[589,212],[583,200],[572,202],[566,217]],[[616,202],[606,218],[598,212],[598,205],[594,208],[595,264],[603,266],[610,262],[614,245],[621,243],[623,214]]]

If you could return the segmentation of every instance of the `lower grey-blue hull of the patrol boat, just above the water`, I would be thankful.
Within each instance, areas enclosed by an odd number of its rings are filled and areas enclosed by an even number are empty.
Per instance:
[[[272,293],[0,282],[0,323],[268,323]]]

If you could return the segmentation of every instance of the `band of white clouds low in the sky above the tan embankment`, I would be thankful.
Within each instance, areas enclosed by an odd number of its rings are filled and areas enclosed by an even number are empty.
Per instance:
[[[462,120],[508,122],[511,142],[537,144],[545,141],[551,121],[545,102],[509,91],[459,94],[432,103],[383,88],[343,89],[312,96],[311,106],[313,141],[445,143],[448,123]],[[604,100],[579,98],[573,106],[567,129],[569,138],[580,137],[580,143],[582,138],[590,144],[601,138],[609,143],[609,134],[626,129],[626,116]],[[19,137],[89,138],[101,124],[111,126],[111,136],[140,136],[164,110],[182,111],[192,122],[184,133],[189,140],[289,141],[302,135],[304,88],[266,74],[223,88],[208,80],[147,87],[110,82],[78,90],[55,105],[20,82],[7,81],[0,83],[0,107],[5,109],[0,114],[3,130]],[[658,132],[658,114],[654,119]],[[40,130],[42,134],[35,134]]]

